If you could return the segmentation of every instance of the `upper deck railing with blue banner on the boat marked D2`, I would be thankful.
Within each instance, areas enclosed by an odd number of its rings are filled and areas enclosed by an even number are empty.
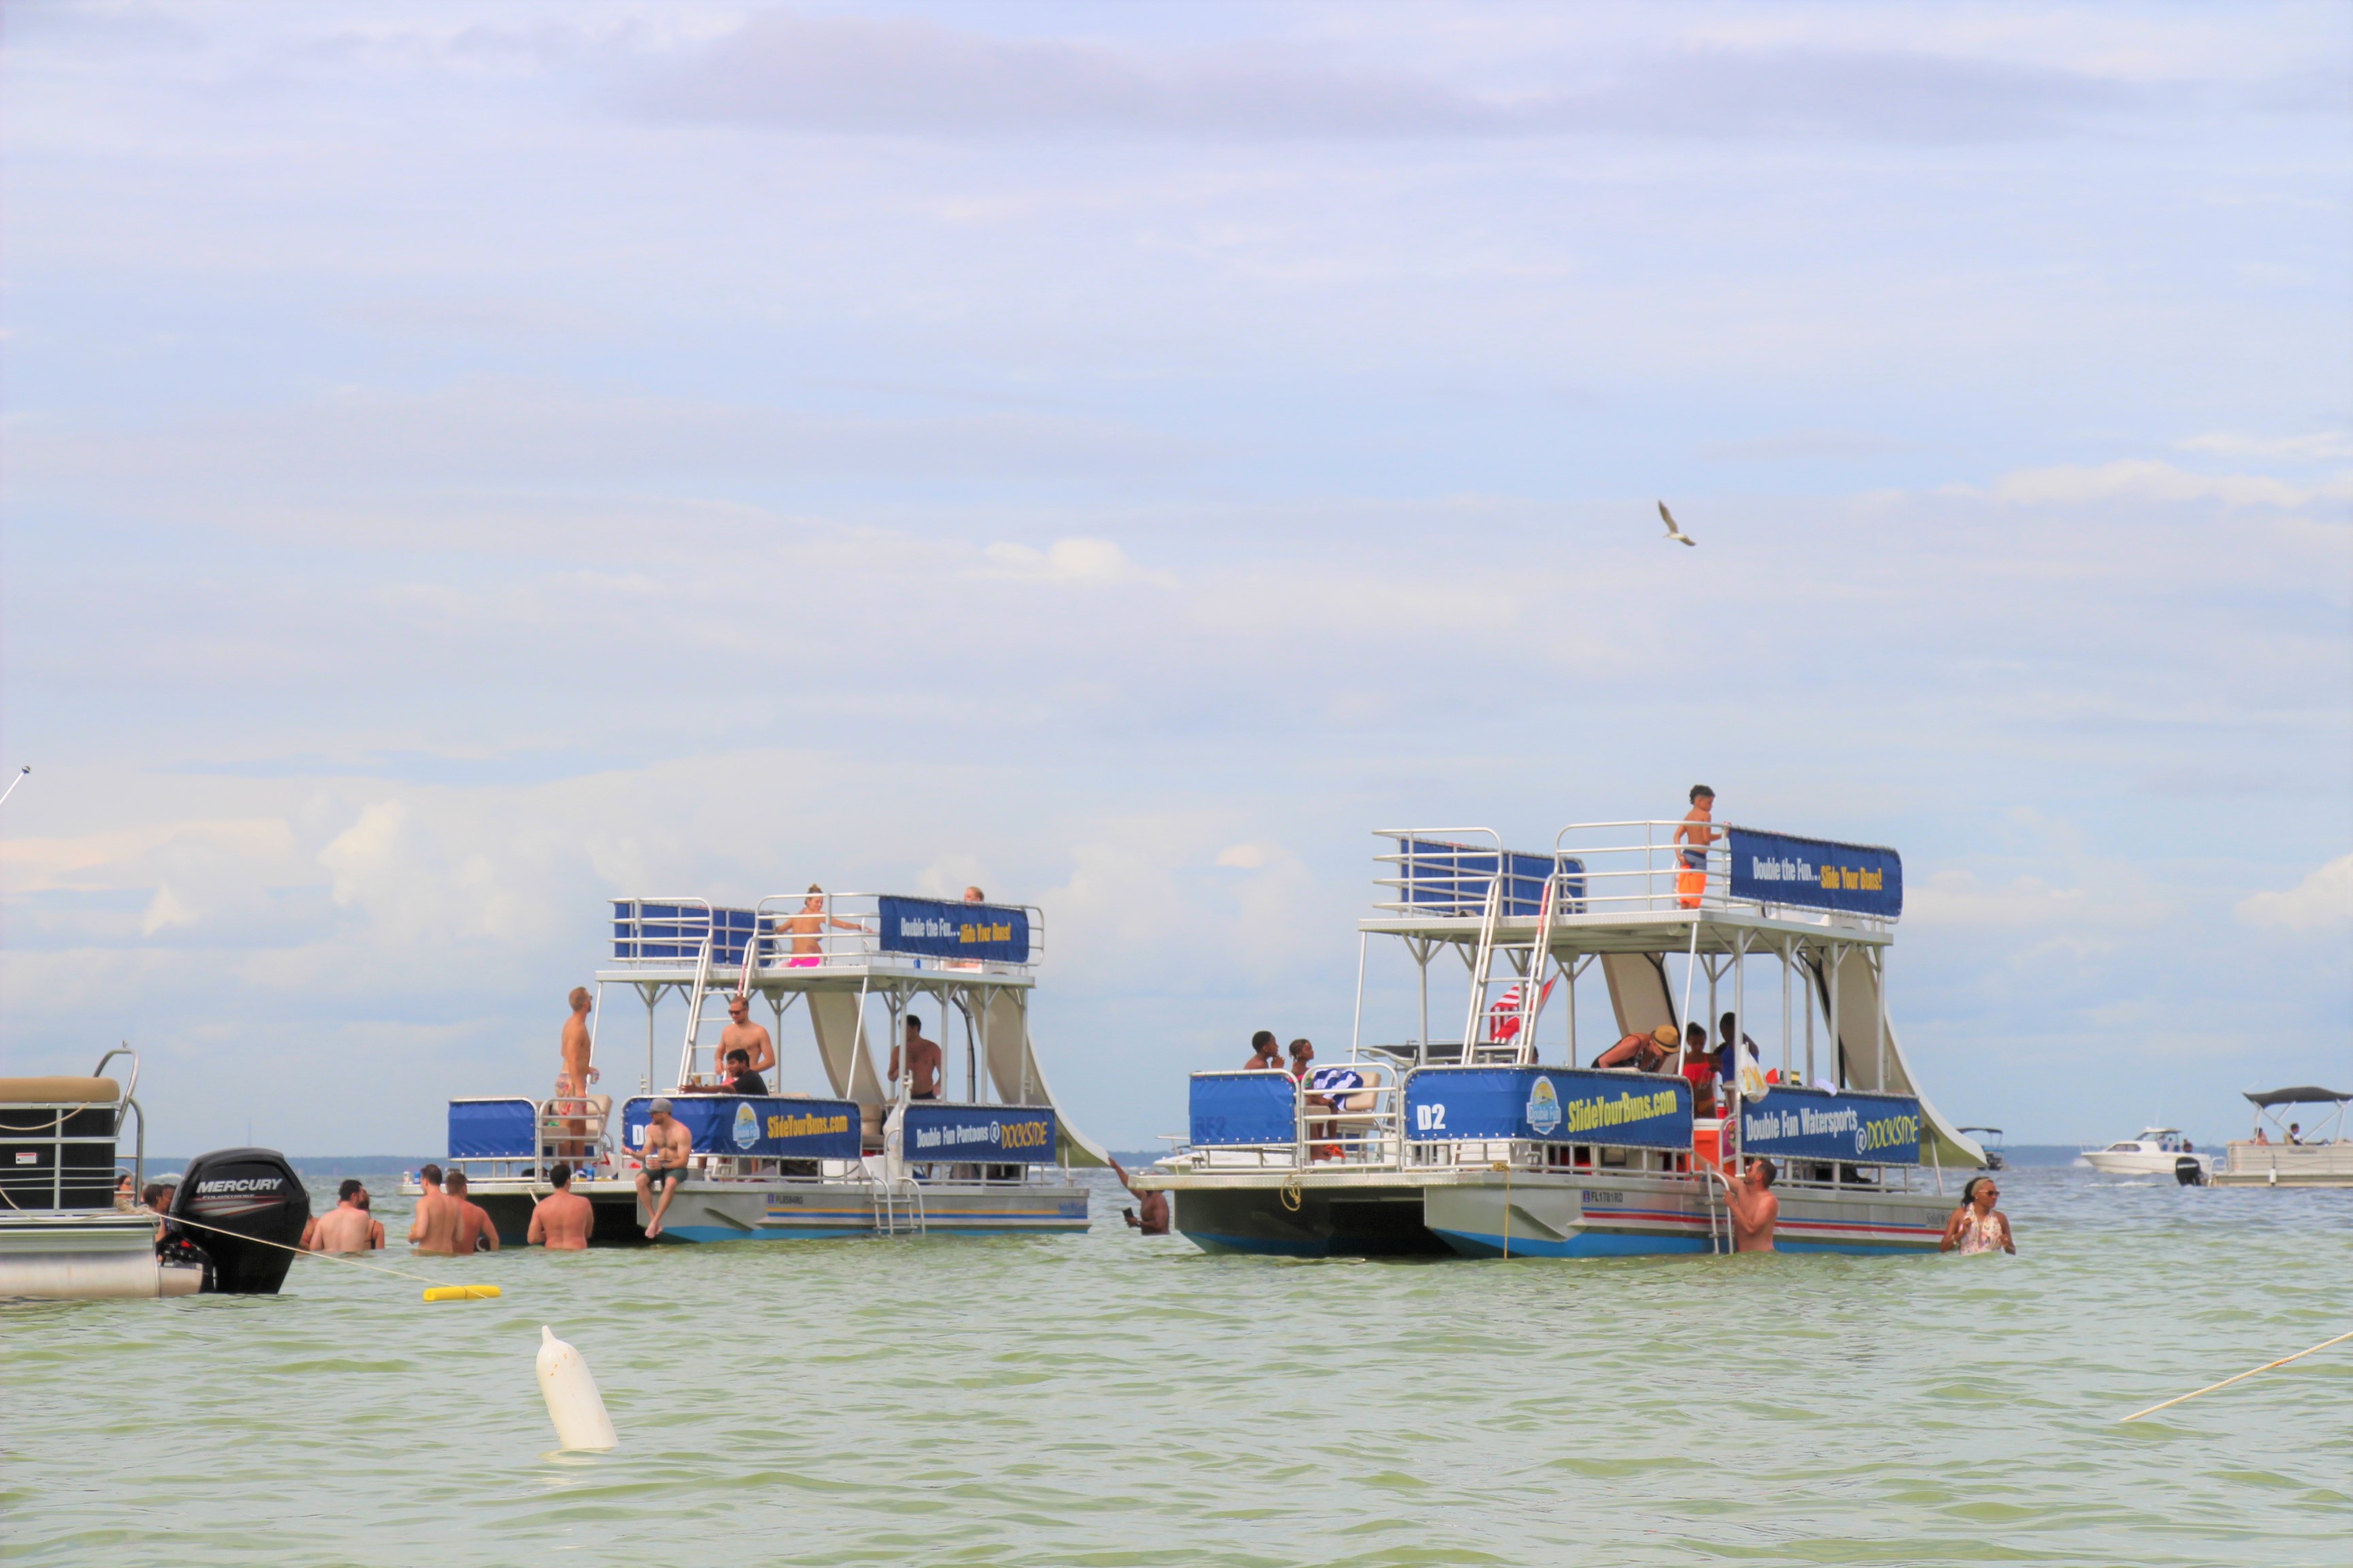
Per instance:
[[[1374,910],[1402,919],[1537,919],[1546,879],[1553,919],[1765,912],[1885,929],[1904,907],[1892,849],[1706,823],[1711,844],[1678,842],[1682,820],[1572,823],[1551,853],[1506,849],[1492,827],[1379,827]]]

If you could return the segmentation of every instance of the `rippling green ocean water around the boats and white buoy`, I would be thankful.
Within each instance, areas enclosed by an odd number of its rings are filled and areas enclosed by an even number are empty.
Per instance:
[[[1104,1192],[5,1305],[0,1561],[2353,1561],[2353,1345],[2115,1425],[2353,1328],[2353,1192],[2002,1187],[2019,1258],[1209,1258]],[[541,1324],[616,1453],[551,1453]]]

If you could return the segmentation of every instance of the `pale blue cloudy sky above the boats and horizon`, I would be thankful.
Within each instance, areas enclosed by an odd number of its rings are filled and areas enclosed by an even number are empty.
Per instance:
[[[605,900],[979,882],[1151,1147],[1346,1048],[1372,830],[1704,780],[1904,853],[1955,1121],[2245,1135],[2353,1088],[2348,66],[2341,5],[14,5],[0,1072],[433,1154]]]

